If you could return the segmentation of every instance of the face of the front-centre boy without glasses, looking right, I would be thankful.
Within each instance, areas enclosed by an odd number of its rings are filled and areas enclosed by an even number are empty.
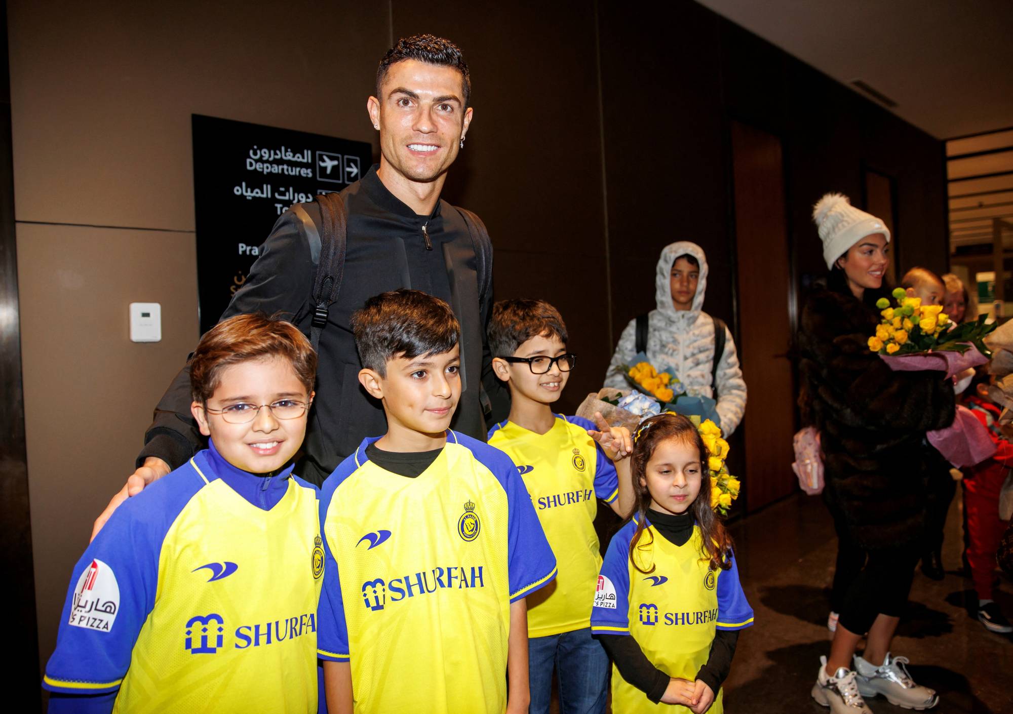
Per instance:
[[[446,442],[461,398],[461,348],[449,352],[387,361],[386,375],[363,370],[359,381],[383,401],[387,451],[430,451]]]

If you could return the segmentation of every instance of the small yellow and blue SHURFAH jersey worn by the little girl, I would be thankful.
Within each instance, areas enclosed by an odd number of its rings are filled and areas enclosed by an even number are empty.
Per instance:
[[[753,609],[738,581],[738,568],[732,558],[730,569],[710,569],[709,561],[701,559],[699,527],[689,541],[677,546],[648,522],[637,545],[637,564],[644,569],[653,564],[654,570],[640,572],[629,557],[635,531],[636,522],[630,521],[609,543],[594,593],[592,632],[632,635],[658,669],[695,681],[710,655],[715,629],[739,630],[753,624]],[[723,711],[722,691],[715,693],[708,714]],[[653,704],[614,664],[612,707],[624,714],[690,714],[684,706]]]

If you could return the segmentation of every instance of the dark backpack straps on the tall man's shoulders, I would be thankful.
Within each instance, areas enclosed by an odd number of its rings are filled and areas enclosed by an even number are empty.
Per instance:
[[[321,193],[316,196],[320,206],[320,260],[313,276],[313,321],[310,323],[310,342],[314,349],[320,346],[320,333],[327,326],[327,311],[337,300],[344,274],[344,254],[348,245],[348,215],[340,194]],[[475,249],[475,272],[478,279],[478,304],[486,299],[492,282],[492,243],[485,224],[467,209],[457,209],[468,226],[471,243]]]

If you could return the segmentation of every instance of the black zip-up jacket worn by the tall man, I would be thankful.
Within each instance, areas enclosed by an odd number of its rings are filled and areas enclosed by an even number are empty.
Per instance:
[[[499,407],[491,416],[498,416],[503,404],[503,390],[492,373],[485,340],[492,286],[478,286],[474,246],[460,212],[441,200],[432,216],[416,215],[387,190],[376,165],[341,191],[341,197],[348,217],[344,274],[321,333],[316,398],[296,467],[302,478],[317,484],[365,437],[382,434],[387,428],[383,407],[359,384],[362,366],[348,324],[352,313],[374,295],[411,288],[446,300],[454,309],[461,321],[462,393],[453,428],[485,441],[483,381]],[[308,334],[320,225],[315,203],[297,204],[286,211],[221,319],[252,312],[282,313]],[[479,295],[483,296],[481,305]],[[191,401],[185,366],[155,407],[138,466],[155,456],[175,469],[204,447],[190,415]]]

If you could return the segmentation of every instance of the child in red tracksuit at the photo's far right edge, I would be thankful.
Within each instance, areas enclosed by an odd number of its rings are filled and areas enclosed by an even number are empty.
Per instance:
[[[976,382],[978,380],[976,379]],[[999,539],[1009,521],[999,519],[999,492],[1013,468],[1013,444],[999,427],[1001,409],[988,397],[988,384],[968,390],[964,405],[989,429],[998,451],[991,459],[964,471],[963,507],[967,515],[967,562],[978,592],[978,619],[992,632],[1013,632],[998,603],[992,600]]]

